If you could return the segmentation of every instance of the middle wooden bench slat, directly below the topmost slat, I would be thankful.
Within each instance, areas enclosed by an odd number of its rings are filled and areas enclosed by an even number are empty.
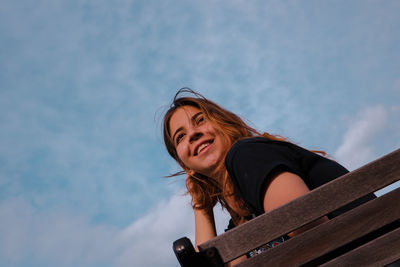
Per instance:
[[[305,264],[400,219],[398,203],[400,203],[400,188],[352,209],[273,249],[268,249],[237,266],[299,266]]]

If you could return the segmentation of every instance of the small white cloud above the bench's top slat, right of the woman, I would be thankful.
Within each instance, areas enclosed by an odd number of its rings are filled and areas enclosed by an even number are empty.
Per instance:
[[[375,158],[372,139],[385,126],[387,112],[382,106],[361,111],[349,125],[335,158],[349,169],[358,168]]]

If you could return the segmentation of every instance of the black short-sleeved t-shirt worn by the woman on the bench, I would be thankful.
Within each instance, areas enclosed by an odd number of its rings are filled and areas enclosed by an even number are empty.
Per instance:
[[[236,142],[226,156],[225,165],[236,194],[256,216],[264,213],[265,188],[278,172],[288,171],[297,174],[310,190],[348,172],[337,162],[295,144],[264,137],[247,138]],[[329,217],[335,217],[374,197],[370,194],[332,212]]]

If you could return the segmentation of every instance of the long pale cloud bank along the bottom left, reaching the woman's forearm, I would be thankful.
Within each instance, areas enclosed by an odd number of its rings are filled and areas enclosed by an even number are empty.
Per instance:
[[[61,210],[37,211],[20,198],[0,203],[0,264],[20,266],[178,266],[172,243],[194,242],[190,198],[182,191],[124,229],[92,225]],[[218,232],[228,223],[216,210]]]

